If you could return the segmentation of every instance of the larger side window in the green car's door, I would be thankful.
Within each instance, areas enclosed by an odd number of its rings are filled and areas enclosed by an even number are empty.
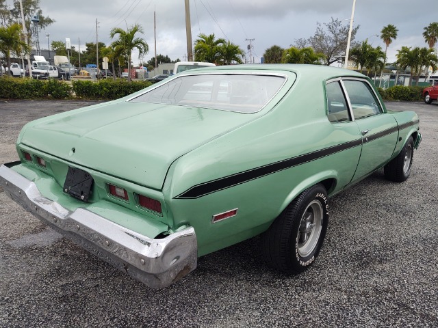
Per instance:
[[[383,113],[370,85],[364,81],[344,80],[355,120]]]

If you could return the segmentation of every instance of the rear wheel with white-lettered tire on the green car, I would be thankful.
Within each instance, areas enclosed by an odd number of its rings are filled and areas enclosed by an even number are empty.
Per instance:
[[[288,275],[309,269],[329,224],[329,197],[322,184],[303,191],[262,235],[263,259]]]

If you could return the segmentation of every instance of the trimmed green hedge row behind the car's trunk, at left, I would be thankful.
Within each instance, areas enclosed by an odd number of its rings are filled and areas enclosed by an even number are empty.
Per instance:
[[[0,98],[3,99],[118,99],[151,85],[147,81],[105,79],[98,82],[77,80],[66,83],[56,79],[35,80],[3,77]]]

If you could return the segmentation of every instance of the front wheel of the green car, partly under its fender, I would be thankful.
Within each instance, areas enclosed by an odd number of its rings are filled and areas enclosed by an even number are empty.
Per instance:
[[[390,181],[403,182],[409,178],[413,163],[413,137],[409,137],[407,143],[392,161],[384,168],[385,178]]]

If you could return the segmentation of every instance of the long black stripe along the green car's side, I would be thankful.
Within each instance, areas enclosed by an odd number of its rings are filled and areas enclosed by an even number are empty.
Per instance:
[[[322,150],[316,150],[315,152],[309,152],[308,154],[302,154],[300,156],[292,157],[291,159],[285,159],[283,161],[271,163],[261,167],[256,167],[255,169],[249,169],[248,171],[233,174],[231,176],[225,176],[224,178],[196,184],[196,186],[191,187],[187,191],[184,191],[180,195],[177,195],[177,197],[175,198],[192,199],[203,197],[205,195],[209,195],[210,193],[215,193],[216,191],[237,186],[237,184],[242,184],[250,180],[261,178],[262,176],[267,176],[275,172],[283,171],[283,169],[289,169],[290,167],[301,165],[310,161],[315,161],[315,159],[320,159],[322,157],[335,154],[336,152],[342,152],[343,150],[360,146],[362,143],[370,142],[375,139],[384,137],[385,135],[397,132],[399,129],[401,130],[402,128],[407,128],[408,126],[415,125],[418,122],[419,121],[416,120],[413,122],[402,124],[400,126],[394,126],[393,128],[388,128],[385,131],[374,133],[374,135],[363,137],[363,140],[357,139],[353,141],[348,141],[347,143],[342,143],[337,146],[324,148]]]

